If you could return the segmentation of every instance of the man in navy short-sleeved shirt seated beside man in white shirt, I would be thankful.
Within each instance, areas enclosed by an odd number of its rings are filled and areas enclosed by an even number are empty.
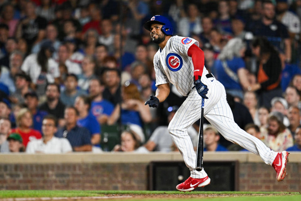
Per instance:
[[[66,126],[59,129],[55,137],[68,139],[73,151],[91,151],[90,132],[86,128],[77,126],[78,115],[75,107],[67,107],[64,113]]]

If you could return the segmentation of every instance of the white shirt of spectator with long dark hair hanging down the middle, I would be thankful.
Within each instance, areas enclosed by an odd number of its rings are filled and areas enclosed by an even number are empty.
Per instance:
[[[21,70],[29,75],[31,81],[36,84],[37,80],[41,74],[41,66],[37,61],[37,54],[30,54],[27,56],[21,66]],[[60,77],[60,71],[58,63],[54,59],[48,59],[48,72],[46,73],[46,78],[49,83],[53,83],[55,78]]]

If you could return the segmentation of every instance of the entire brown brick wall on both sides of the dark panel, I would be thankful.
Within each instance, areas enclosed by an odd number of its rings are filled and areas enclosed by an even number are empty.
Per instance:
[[[147,163],[0,164],[0,190],[147,190]],[[301,163],[288,163],[288,175],[264,163],[240,163],[240,191],[301,190]]]

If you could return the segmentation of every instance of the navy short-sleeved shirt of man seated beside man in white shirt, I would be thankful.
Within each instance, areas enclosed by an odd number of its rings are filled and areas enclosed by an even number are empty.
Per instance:
[[[79,147],[91,144],[91,134],[87,128],[76,126],[68,131],[66,128],[59,129],[55,133],[55,137],[66,138],[69,140],[72,147]]]

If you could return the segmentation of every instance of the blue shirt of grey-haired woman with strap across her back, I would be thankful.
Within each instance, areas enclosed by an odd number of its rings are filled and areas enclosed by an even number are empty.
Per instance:
[[[237,71],[240,68],[245,68],[245,62],[240,57],[234,57],[232,60],[227,60],[228,68],[230,68],[237,76]],[[221,60],[216,60],[213,64],[214,76],[221,82],[226,90],[236,89],[242,90],[240,83],[232,79],[224,70]]]

